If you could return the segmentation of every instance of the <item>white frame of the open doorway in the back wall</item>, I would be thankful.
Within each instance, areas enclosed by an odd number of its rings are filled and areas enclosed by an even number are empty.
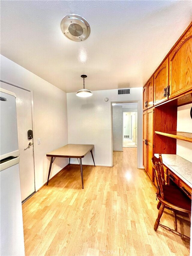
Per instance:
[[[133,101],[111,101],[111,167],[113,167],[113,103],[137,103],[137,138],[139,138],[140,134],[140,101],[139,100],[133,100]],[[139,124],[139,125],[138,125]],[[137,140],[137,168],[139,168],[139,160],[140,160],[140,141]]]

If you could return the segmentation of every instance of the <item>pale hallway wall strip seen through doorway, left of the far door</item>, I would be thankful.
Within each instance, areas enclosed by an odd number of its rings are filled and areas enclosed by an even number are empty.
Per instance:
[[[113,106],[113,150],[123,151],[122,106]]]

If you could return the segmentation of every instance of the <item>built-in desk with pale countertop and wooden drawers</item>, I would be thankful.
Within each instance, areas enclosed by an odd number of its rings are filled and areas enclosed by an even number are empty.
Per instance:
[[[159,154],[155,154],[155,156],[159,158]],[[165,171],[166,182],[169,184],[171,179],[191,199],[192,163],[179,155],[170,154],[162,154],[162,161],[167,168]]]

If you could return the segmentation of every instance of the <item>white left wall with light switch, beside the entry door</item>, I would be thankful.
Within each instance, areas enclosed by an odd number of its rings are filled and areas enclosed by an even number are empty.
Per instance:
[[[36,190],[47,180],[50,157],[46,153],[68,143],[66,93],[1,55],[1,80],[33,90]],[[41,144],[37,139],[41,138]],[[68,163],[56,158],[52,177]]]

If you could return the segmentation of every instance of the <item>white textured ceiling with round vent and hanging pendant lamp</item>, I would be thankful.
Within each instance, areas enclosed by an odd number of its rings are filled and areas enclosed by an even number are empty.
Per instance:
[[[189,25],[192,1],[2,1],[1,54],[75,92],[140,87]],[[67,14],[84,17],[88,39],[61,32]]]

